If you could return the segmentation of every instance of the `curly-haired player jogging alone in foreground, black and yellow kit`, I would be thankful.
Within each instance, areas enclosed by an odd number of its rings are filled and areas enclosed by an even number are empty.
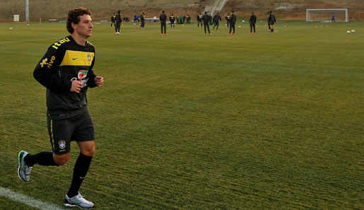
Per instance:
[[[69,11],[67,30],[71,35],[51,45],[35,67],[34,78],[47,88],[47,124],[52,152],[18,153],[18,176],[28,182],[35,164],[67,163],[71,141],[76,141],[79,157],[64,206],[79,206],[81,209],[93,208],[93,203],[79,193],[95,153],[95,133],[86,91],[103,86],[103,77],[93,74],[95,48],[87,41],[92,28],[88,9],[79,7]]]

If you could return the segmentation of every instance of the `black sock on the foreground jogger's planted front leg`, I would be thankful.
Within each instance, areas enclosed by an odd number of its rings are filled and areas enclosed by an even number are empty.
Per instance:
[[[91,160],[92,157],[79,153],[79,158],[77,158],[76,164],[74,164],[74,175],[72,177],[71,187],[69,187],[69,191],[67,192],[69,198],[79,194],[79,187],[81,187],[82,181],[84,181],[89,171]]]

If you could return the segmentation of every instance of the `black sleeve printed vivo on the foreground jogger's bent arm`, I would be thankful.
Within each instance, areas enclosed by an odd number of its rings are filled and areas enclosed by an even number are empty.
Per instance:
[[[48,48],[48,51],[40,59],[37,66],[35,66],[33,76],[42,86],[45,86],[45,88],[51,91],[58,93],[70,91],[72,81],[62,78],[59,72],[57,72],[59,64],[62,62],[61,59],[63,58],[59,55],[59,50],[53,46],[55,45]]]

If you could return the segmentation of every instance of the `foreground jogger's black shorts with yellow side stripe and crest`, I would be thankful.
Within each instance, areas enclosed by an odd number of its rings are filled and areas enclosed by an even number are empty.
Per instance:
[[[93,141],[95,132],[89,110],[68,118],[47,115],[52,151],[57,155],[69,153],[71,141]]]

